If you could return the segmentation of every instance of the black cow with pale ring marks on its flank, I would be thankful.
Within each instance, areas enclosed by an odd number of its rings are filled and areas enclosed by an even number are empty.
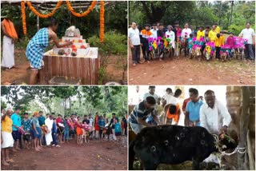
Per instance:
[[[236,145],[225,147],[233,149]],[[203,127],[147,127],[130,142],[129,169],[133,169],[135,155],[145,169],[155,170],[159,164],[180,164],[184,161],[193,161],[193,169],[199,169],[200,162],[214,152],[218,152],[218,142]]]

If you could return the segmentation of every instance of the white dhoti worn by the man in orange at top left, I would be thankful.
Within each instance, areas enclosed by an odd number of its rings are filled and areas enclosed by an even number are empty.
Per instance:
[[[2,66],[9,69],[14,66],[14,43],[7,36],[2,40]]]

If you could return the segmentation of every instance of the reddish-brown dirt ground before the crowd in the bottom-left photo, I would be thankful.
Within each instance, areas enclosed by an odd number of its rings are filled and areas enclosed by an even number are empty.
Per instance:
[[[82,146],[72,141],[61,148],[46,147],[40,152],[22,149],[15,153],[12,165],[1,165],[2,170],[126,170],[127,138],[119,138],[119,141],[93,140]]]

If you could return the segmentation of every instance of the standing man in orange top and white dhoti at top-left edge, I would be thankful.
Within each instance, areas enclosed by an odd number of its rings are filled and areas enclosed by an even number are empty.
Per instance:
[[[7,14],[6,18],[1,23],[2,27],[2,66],[6,70],[14,68],[14,42],[18,40],[18,34],[14,28],[14,23],[11,22],[11,14]]]

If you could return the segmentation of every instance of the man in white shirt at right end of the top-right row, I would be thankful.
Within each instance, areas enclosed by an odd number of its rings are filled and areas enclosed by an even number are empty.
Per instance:
[[[250,22],[246,23],[246,29],[243,29],[239,34],[239,37],[246,38],[248,40],[245,49],[245,58],[247,60],[254,61],[254,50],[253,45],[255,46],[255,33],[252,28],[250,28]]]

